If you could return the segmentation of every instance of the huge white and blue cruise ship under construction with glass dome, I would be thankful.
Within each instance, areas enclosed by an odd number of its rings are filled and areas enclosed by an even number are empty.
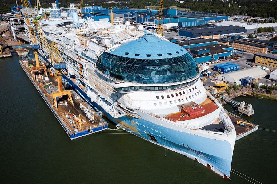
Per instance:
[[[142,26],[71,13],[72,24],[41,22],[47,40],[58,44],[67,64],[63,78],[74,90],[118,128],[229,178],[235,128],[205,90],[193,56]],[[41,44],[41,59],[51,63]]]

